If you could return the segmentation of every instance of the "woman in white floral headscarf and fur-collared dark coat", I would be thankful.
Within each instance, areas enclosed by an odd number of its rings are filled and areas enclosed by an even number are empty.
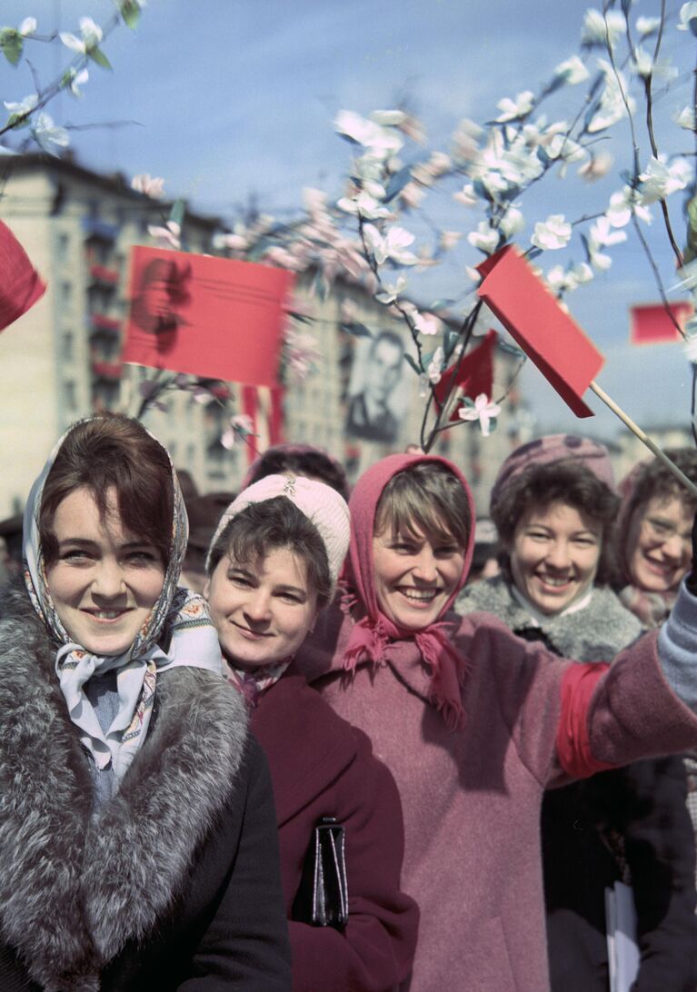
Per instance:
[[[289,987],[268,773],[177,587],[187,531],[124,417],[71,428],[30,494],[0,622],[4,992]]]

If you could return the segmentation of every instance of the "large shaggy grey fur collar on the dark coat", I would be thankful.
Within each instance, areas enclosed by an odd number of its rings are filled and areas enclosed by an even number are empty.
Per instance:
[[[90,820],[89,770],[54,649],[25,596],[13,597],[10,614],[4,603],[0,928],[45,989],[92,992],[103,964],[146,936],[181,892],[233,789],[246,713],[209,672],[160,676],[148,738]]]

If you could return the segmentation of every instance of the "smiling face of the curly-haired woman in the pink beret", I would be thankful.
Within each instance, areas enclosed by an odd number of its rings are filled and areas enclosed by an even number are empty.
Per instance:
[[[513,582],[540,613],[559,613],[592,586],[602,547],[602,524],[576,507],[533,507],[513,532]]]

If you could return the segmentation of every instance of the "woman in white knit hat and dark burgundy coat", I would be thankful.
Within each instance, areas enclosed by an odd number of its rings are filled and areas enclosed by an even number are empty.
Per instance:
[[[392,777],[293,664],[348,545],[339,493],[269,475],[227,508],[207,561],[205,596],[228,679],[247,700],[271,769],[296,992],[391,989],[408,975],[416,942],[418,910],[399,891],[404,836]],[[325,816],[345,831],[348,919],[317,926],[298,897]]]

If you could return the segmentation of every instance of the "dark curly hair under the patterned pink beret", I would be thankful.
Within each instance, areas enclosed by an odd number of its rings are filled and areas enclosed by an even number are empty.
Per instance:
[[[564,503],[602,526],[603,545],[598,564],[599,585],[609,580],[610,531],[617,517],[620,499],[582,461],[569,458],[546,464],[532,464],[503,486],[491,504],[491,520],[498,531],[501,568],[510,575],[510,549],[515,529],[524,514],[533,508]]]

